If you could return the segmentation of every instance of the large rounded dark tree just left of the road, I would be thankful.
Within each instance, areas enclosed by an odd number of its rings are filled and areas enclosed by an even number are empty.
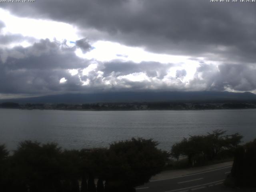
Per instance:
[[[132,138],[110,145],[107,154],[105,191],[134,191],[160,172],[168,154],[152,139]]]

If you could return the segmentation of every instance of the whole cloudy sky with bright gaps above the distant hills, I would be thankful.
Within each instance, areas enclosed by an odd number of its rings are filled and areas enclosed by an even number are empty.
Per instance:
[[[256,3],[224,1],[0,1],[0,98],[256,93]]]

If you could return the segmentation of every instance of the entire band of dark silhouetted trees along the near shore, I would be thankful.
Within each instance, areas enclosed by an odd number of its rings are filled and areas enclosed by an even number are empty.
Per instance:
[[[174,144],[170,152],[152,139],[132,138],[108,149],[62,150],[56,143],[20,142],[12,154],[0,145],[0,191],[134,192],[180,156],[188,166],[234,157],[229,182],[255,186],[256,140],[241,145],[238,133],[214,130]]]

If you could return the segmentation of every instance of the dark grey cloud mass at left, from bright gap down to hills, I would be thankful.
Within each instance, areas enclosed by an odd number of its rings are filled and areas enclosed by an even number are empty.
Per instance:
[[[40,94],[80,90],[80,79],[68,69],[86,68],[88,61],[78,58],[65,42],[40,40],[31,47],[0,50],[0,92]],[[61,78],[66,84],[60,84]]]

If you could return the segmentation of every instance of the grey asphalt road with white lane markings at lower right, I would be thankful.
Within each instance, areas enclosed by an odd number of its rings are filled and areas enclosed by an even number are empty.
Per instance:
[[[226,166],[180,177],[152,180],[137,187],[136,192],[208,191],[208,188],[222,184],[231,168],[232,166]]]

